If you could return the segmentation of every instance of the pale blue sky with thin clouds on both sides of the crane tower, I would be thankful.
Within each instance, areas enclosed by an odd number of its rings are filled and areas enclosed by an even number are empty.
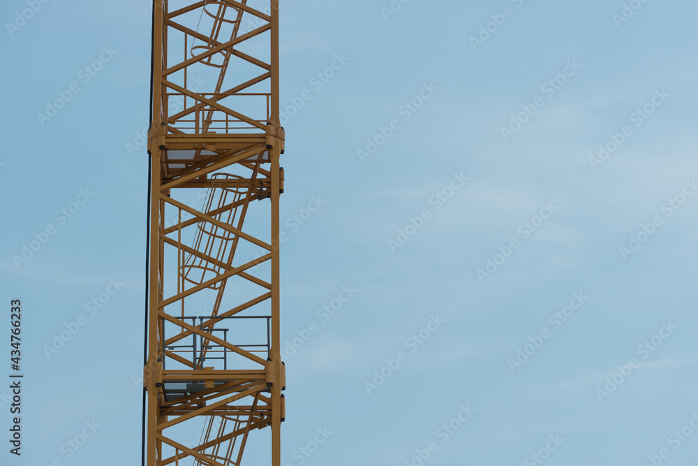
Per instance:
[[[0,305],[22,299],[25,374],[24,455],[0,454],[138,464],[149,2],[17,20],[31,3],[0,6]],[[283,464],[695,464],[698,6],[390,5],[281,0],[282,102],[311,96],[285,122],[282,341],[318,326],[286,358]]]

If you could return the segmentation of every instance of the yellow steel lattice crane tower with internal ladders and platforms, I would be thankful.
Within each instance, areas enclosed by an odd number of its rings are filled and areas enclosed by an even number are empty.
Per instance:
[[[147,466],[281,466],[278,12],[154,0]]]

